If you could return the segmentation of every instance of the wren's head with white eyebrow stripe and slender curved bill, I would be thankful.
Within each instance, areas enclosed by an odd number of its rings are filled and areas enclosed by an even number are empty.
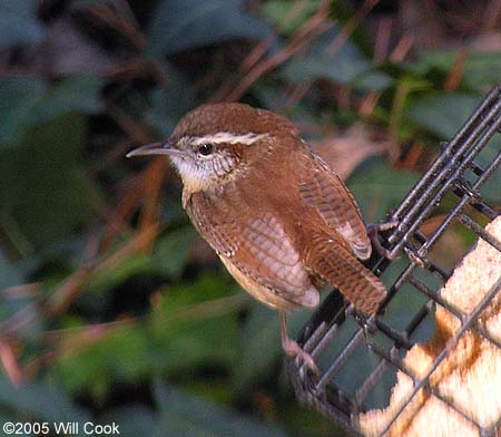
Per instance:
[[[297,135],[292,123],[265,109],[203,105],[184,116],[167,140],[127,156],[167,155],[185,186],[205,190],[245,174],[254,162],[273,153],[277,139]]]

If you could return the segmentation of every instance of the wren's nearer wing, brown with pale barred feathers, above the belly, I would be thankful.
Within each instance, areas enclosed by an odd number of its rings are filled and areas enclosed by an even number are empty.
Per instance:
[[[235,212],[223,198],[213,202],[203,193],[191,197],[187,211],[202,236],[240,272],[294,304],[318,303],[299,253],[272,213]]]

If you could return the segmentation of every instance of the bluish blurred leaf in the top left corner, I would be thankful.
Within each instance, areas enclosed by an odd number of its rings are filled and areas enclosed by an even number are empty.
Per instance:
[[[43,29],[37,22],[37,0],[2,0],[0,47],[41,40]]]

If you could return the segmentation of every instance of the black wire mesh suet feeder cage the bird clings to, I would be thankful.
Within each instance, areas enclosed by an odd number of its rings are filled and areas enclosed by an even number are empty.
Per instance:
[[[412,378],[413,389],[380,435],[390,429],[423,388],[458,411],[478,428],[480,435],[497,435],[501,417],[494,426],[484,429],[429,383],[430,376],[450,353],[449,348],[444,347],[435,356],[421,378],[412,375],[402,361],[413,344],[433,334],[435,305],[443,307],[461,321],[452,341],[459,341],[468,330],[474,330],[501,350],[500,341],[478,323],[479,314],[501,290],[501,272],[474,310],[465,314],[439,294],[453,266],[444,265],[440,256],[432,255],[448,230],[458,225],[465,226],[501,252],[501,242],[483,229],[499,212],[482,197],[482,187],[501,163],[501,142],[494,145],[494,156],[480,159],[484,146],[490,140],[500,139],[501,135],[494,136],[500,132],[501,85],[491,90],[458,134],[443,144],[430,169],[389,215],[389,220],[397,221],[399,225],[383,235],[382,243],[394,261],[374,255],[370,266],[376,274],[389,274],[393,280],[381,311],[367,321],[369,331],[367,326],[363,328],[356,322],[353,305],[334,291],[298,337],[299,344],[317,362],[321,376],[310,373],[297,360],[286,360],[299,400],[315,407],[351,434],[362,434],[361,412],[387,406],[400,370]],[[501,201],[501,187],[499,192]],[[443,203],[448,211],[444,214],[442,205],[439,225],[430,235],[424,235],[420,226],[436,214]],[[394,259],[397,255],[400,260]],[[385,282],[387,285],[389,281]]]

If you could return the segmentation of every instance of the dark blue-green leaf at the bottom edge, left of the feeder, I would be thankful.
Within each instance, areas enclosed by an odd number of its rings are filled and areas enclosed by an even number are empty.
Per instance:
[[[155,382],[155,399],[161,411],[164,433],[169,436],[285,436],[272,425],[185,395],[170,386]]]

